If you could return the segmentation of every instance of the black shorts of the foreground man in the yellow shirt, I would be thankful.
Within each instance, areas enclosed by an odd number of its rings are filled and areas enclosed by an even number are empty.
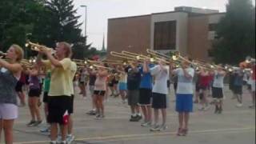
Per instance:
[[[69,112],[71,104],[70,96],[49,96],[48,97],[48,115],[49,123],[59,123],[66,125],[64,114]]]

